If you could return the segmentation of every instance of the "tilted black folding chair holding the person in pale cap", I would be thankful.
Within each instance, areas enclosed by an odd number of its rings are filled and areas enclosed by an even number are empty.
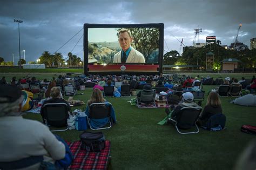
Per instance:
[[[201,113],[202,107],[183,107],[181,108],[181,113],[177,115],[177,119],[174,120],[169,118],[170,121],[174,123],[178,133],[180,134],[192,134],[198,133],[199,128],[196,124],[199,114]],[[181,132],[180,129],[188,130],[196,126],[197,131],[192,132]]]

